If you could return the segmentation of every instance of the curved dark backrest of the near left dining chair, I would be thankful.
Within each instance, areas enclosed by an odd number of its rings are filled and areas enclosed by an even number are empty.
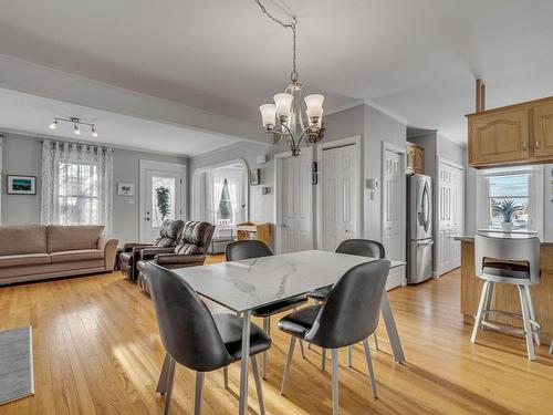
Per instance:
[[[194,289],[168,269],[144,267],[161,343],[179,364],[209,372],[231,360],[206,304]]]

